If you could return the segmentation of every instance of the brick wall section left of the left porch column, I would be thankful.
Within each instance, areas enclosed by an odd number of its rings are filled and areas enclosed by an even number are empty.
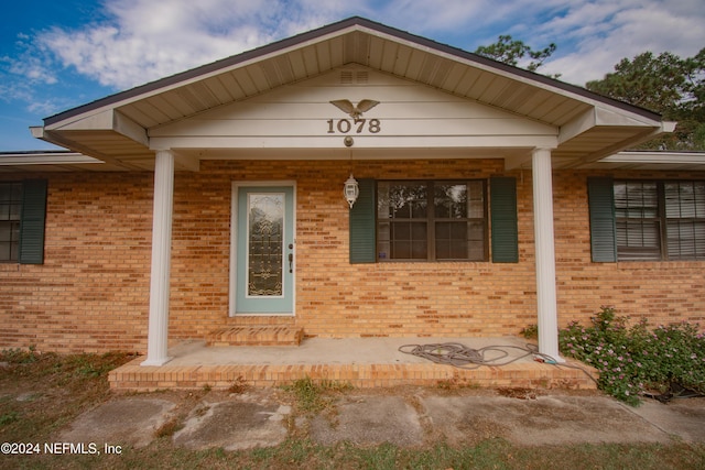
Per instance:
[[[0,348],[134,350],[147,335],[153,176],[28,177],[48,179],[45,260],[0,264]]]

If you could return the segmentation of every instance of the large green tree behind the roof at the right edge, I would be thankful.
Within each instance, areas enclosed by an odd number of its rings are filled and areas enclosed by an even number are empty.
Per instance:
[[[622,58],[615,72],[586,84],[590,91],[659,112],[677,121],[675,132],[646,149],[705,150],[705,48],[694,57],[651,52]]]

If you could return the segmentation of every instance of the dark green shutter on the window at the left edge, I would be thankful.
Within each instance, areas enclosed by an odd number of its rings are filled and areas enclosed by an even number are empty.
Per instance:
[[[44,220],[46,181],[28,179],[23,184],[20,219],[20,264],[44,263]]]

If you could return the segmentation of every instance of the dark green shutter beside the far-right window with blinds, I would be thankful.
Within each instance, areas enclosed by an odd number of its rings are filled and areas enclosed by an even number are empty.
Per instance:
[[[587,178],[590,217],[590,251],[594,263],[617,261],[615,189],[610,177]]]

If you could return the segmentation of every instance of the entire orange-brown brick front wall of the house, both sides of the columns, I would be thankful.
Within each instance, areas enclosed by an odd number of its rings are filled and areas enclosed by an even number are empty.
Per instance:
[[[350,170],[358,178],[505,174],[498,160],[204,161],[199,173],[177,173],[170,340],[235,321],[295,324],[323,337],[499,336],[536,323],[530,171],[509,174],[518,182],[519,263],[350,265],[341,195]],[[144,351],[153,175],[43,176],[45,264],[0,264],[0,348]],[[653,324],[702,321],[705,263],[590,262],[587,176],[554,173],[558,325],[587,321],[600,305]],[[268,179],[297,185],[296,317],[228,319],[231,182]]]

